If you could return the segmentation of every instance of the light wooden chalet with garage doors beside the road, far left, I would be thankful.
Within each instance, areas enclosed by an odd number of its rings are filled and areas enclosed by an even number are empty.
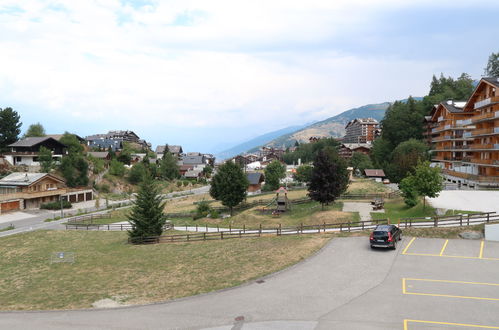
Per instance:
[[[0,179],[0,213],[39,208],[60,199],[83,202],[93,198],[92,189],[70,189],[63,179],[48,173],[15,172]]]

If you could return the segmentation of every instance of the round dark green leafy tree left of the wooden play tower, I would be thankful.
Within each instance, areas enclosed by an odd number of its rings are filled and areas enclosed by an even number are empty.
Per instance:
[[[210,196],[222,202],[232,210],[246,198],[249,182],[243,170],[233,162],[226,162],[219,167],[211,180]]]

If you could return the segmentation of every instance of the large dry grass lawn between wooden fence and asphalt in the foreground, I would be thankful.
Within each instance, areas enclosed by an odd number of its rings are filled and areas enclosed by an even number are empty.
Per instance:
[[[232,287],[288,267],[331,236],[134,246],[122,232],[36,231],[0,238],[0,310],[158,302]],[[52,252],[74,264],[50,264]]]

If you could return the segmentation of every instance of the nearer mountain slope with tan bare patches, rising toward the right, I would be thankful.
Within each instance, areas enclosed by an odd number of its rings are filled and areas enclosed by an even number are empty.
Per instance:
[[[273,140],[269,140],[264,145],[274,147],[289,147],[294,145],[295,141],[306,143],[312,136],[318,137],[342,137],[345,135],[345,126],[349,121],[355,118],[374,118],[378,121],[383,119],[385,111],[390,106],[390,102],[379,104],[368,104],[359,108],[350,109],[330,117],[328,119],[316,122],[295,132],[289,132]],[[249,150],[254,151],[254,149]]]

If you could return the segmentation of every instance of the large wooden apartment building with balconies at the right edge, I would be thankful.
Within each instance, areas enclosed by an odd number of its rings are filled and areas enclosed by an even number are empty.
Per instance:
[[[467,102],[442,102],[427,118],[433,158],[448,181],[499,186],[499,78],[483,78]]]

